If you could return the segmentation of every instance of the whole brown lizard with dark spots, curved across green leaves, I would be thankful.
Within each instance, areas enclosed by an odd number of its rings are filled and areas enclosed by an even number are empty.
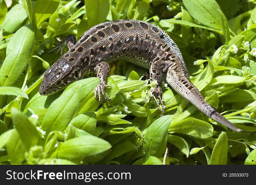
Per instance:
[[[102,103],[102,95],[111,101],[105,93],[108,87],[109,63],[117,59],[149,69],[150,81],[158,85],[151,89],[152,97],[159,110],[164,114],[162,81],[173,88],[184,99],[192,103],[212,120],[241,132],[212,106],[189,79],[189,72],[182,54],[170,36],[161,28],[140,20],[116,20],[100,23],[88,29],[76,41],[74,35],[58,39],[59,43],[50,50],[57,50],[61,57],[48,68],[39,88],[41,95],[50,95],[66,88],[85,74],[97,73],[99,84],[94,93],[95,99]],[[68,51],[63,54],[63,50]],[[150,101],[150,97],[147,103]]]

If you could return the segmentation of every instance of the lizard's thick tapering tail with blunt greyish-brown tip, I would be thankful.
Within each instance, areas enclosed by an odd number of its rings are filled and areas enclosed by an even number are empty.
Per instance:
[[[210,106],[205,98],[201,95],[198,88],[196,88],[192,82],[182,72],[176,72],[172,69],[168,69],[166,75],[166,82],[183,98],[192,103],[202,113],[207,115],[209,118],[217,121],[218,123],[234,130],[236,132],[242,132],[241,129],[237,128],[234,124],[228,121],[220,113],[218,113],[212,106]]]

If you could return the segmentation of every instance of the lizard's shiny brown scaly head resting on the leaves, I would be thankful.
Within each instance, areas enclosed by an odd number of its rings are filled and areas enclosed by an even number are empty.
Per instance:
[[[54,94],[79,80],[80,77],[79,70],[67,64],[63,59],[58,59],[45,71],[39,93],[44,96]]]

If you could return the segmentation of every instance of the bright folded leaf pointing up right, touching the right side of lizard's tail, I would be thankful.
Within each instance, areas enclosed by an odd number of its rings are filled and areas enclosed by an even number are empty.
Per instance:
[[[196,76],[193,84],[198,88],[199,91],[203,90],[211,81],[214,74],[214,66],[211,62],[208,62],[206,68]]]

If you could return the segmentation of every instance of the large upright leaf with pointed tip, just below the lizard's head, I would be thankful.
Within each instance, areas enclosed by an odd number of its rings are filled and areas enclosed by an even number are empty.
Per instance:
[[[52,130],[63,131],[77,110],[81,98],[81,85],[64,92],[48,108],[42,122],[42,130],[47,134]]]

